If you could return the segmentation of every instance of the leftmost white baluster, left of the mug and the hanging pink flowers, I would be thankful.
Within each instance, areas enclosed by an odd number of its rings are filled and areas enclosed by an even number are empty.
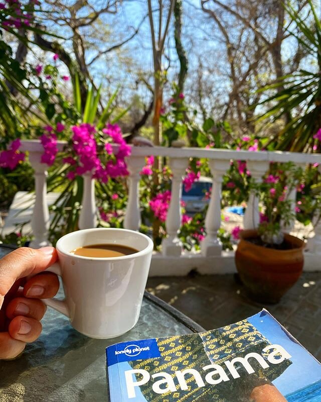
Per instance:
[[[33,209],[31,227],[35,239],[30,247],[40,248],[49,246],[49,209],[47,203],[47,165],[41,163],[41,152],[30,152],[29,161],[35,170],[35,205]]]

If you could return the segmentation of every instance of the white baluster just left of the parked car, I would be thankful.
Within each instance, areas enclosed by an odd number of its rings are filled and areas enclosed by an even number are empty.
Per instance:
[[[182,199],[182,179],[188,167],[188,159],[172,158],[170,167],[173,171],[172,196],[170,208],[166,219],[166,231],[168,237],[162,242],[164,255],[180,256],[182,253],[182,243],[178,238],[181,227],[181,199]]]

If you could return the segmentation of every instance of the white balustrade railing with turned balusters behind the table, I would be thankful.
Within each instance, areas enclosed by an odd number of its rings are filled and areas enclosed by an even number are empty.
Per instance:
[[[63,142],[58,144],[62,150]],[[31,246],[41,247],[48,245],[49,210],[46,200],[47,194],[47,165],[40,162],[43,147],[37,140],[22,141],[21,150],[29,152],[29,160],[35,169],[35,205],[32,216],[32,231],[34,241]],[[140,226],[139,208],[139,181],[142,167],[145,165],[145,156],[169,157],[170,167],[173,172],[172,197],[166,220],[168,236],[163,240],[162,253],[155,253],[152,259],[151,274],[153,275],[184,275],[196,268],[201,273],[226,273],[235,271],[234,253],[222,251],[222,245],[217,232],[221,227],[221,186],[223,176],[233,160],[246,160],[252,177],[260,182],[262,175],[267,171],[270,162],[292,161],[297,166],[304,168],[306,164],[320,163],[321,154],[303,154],[290,152],[249,152],[223,149],[202,148],[165,148],[165,147],[133,147],[131,156],[127,160],[129,170],[128,177],[128,203],[124,219],[126,229],[138,230]],[[181,227],[181,198],[182,181],[189,165],[189,159],[206,158],[213,175],[212,195],[205,220],[207,236],[201,243],[201,252],[184,252],[178,239]],[[321,172],[321,164],[319,165]],[[292,200],[293,212],[295,211],[296,191],[289,194]],[[97,225],[97,213],[95,204],[94,181],[90,174],[84,175],[84,187],[82,197],[82,210],[79,218],[79,228],[93,228]],[[319,222],[320,220],[318,220]],[[258,197],[253,192],[250,194],[247,209],[244,216],[244,228],[256,228],[259,223]],[[284,228],[290,232],[295,221]],[[314,236],[307,241],[305,251],[306,270],[321,270],[321,224],[314,228]]]

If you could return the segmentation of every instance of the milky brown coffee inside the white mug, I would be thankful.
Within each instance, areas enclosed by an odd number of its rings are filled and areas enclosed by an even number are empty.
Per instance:
[[[75,248],[70,252],[83,257],[110,258],[135,254],[138,253],[138,250],[122,244],[91,244],[90,246]]]

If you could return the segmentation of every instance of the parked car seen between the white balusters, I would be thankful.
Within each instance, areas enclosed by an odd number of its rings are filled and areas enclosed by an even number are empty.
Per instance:
[[[186,213],[191,215],[203,211],[210,202],[210,197],[206,197],[206,193],[212,187],[212,179],[201,176],[192,184],[190,191],[185,191],[184,187],[183,184],[182,200],[186,204]]]

